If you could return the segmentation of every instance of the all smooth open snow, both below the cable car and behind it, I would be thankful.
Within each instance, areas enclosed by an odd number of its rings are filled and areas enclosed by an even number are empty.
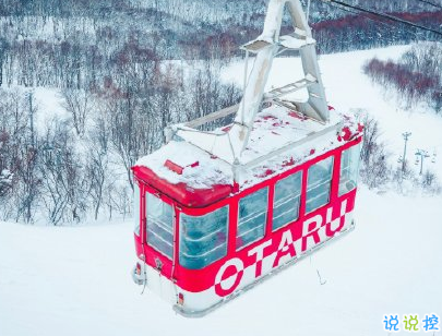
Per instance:
[[[341,110],[377,116],[392,152],[401,153],[404,131],[414,133],[410,148],[442,152],[442,118],[396,111],[396,101],[385,101],[361,72],[367,59],[403,50],[322,57],[327,98]],[[288,61],[276,60],[274,85],[289,82]],[[235,67],[227,76],[242,73]],[[386,335],[384,314],[442,316],[441,218],[441,196],[361,187],[354,232],[201,320],[176,315],[148,291],[140,295],[130,277],[131,223],[0,223],[0,335]]]

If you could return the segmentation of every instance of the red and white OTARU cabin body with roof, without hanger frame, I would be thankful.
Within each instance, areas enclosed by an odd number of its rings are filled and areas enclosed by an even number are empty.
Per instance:
[[[344,120],[321,125],[263,110],[239,181],[187,142],[140,159],[135,280],[182,314],[201,315],[353,229],[361,127]],[[300,130],[306,135],[290,141]],[[264,143],[292,146],[260,161]]]

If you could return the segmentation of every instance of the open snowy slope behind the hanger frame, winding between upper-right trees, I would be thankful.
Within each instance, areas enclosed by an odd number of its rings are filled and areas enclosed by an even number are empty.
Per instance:
[[[362,73],[362,65],[367,60],[377,57],[381,60],[398,59],[410,46],[395,46],[390,48],[343,52],[322,56],[319,64],[328,104],[337,110],[363,109],[374,117],[383,133],[382,140],[387,143],[392,153],[391,164],[397,165],[397,159],[404,151],[404,132],[411,132],[407,145],[407,160],[413,164],[416,149],[425,149],[430,154],[425,169],[439,175],[442,180],[442,118],[435,116],[423,106],[413,110],[403,110],[393,92],[385,92],[381,85],[372,85],[371,80]],[[249,70],[251,64],[249,64]],[[267,89],[279,87],[302,77],[300,59],[276,59],[267,82]],[[242,86],[243,62],[232,64],[224,72],[226,81],[235,81]],[[307,91],[295,94],[294,97],[304,98]],[[431,164],[432,155],[437,160]],[[413,165],[414,166],[414,165]],[[419,167],[416,167],[418,171]]]

